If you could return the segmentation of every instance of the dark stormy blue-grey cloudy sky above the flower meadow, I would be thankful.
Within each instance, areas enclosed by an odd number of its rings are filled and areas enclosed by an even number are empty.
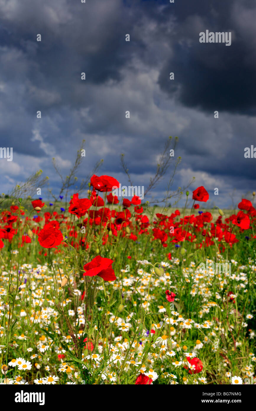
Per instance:
[[[0,159],[0,192],[39,169],[57,192],[51,159],[67,175],[82,139],[78,179],[104,159],[98,174],[127,185],[124,153],[134,185],[146,187],[166,139],[178,136],[174,188],[194,176],[191,188],[204,185],[220,207],[231,193],[236,202],[249,198],[255,21],[255,0],[0,0],[0,146],[13,147],[12,162]],[[200,43],[206,30],[231,32],[231,46]],[[168,175],[156,198],[167,182]]]

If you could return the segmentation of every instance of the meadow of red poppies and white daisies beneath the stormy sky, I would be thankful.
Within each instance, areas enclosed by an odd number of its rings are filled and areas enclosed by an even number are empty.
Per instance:
[[[1,384],[254,383],[253,201],[155,212],[119,183],[1,205]]]

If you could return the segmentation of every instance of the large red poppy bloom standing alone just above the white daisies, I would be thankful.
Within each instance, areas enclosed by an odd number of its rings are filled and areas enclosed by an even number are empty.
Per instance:
[[[86,271],[83,275],[89,275],[93,277],[98,275],[103,278],[104,281],[113,281],[116,279],[114,270],[112,268],[113,260],[109,258],[103,258],[101,256],[96,256],[90,263],[83,266]]]

